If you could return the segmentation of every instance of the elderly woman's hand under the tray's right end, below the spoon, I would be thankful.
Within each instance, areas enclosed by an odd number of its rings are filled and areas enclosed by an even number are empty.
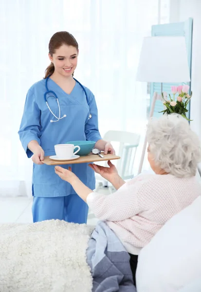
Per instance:
[[[108,161],[108,165],[110,167],[105,167],[105,166],[100,166],[97,164],[89,164],[89,166],[98,174],[100,174],[104,179],[108,180],[111,182],[114,177],[118,176],[118,171],[114,164]]]

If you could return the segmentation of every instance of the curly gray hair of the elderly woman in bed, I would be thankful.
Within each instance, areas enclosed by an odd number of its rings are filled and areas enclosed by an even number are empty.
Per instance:
[[[154,162],[176,177],[196,175],[201,161],[200,140],[179,114],[164,114],[148,123],[147,141]]]

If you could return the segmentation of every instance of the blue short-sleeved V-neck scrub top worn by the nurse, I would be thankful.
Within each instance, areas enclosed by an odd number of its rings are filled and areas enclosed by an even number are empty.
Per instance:
[[[65,144],[68,141],[90,140],[97,142],[102,139],[98,130],[98,113],[94,95],[85,87],[76,82],[73,91],[67,94],[51,78],[48,80],[48,89],[55,91],[61,109],[61,117],[66,117],[55,123],[55,120],[44,101],[45,79],[35,83],[28,91],[20,129],[18,131],[21,144],[28,158],[33,153],[27,148],[30,141],[36,140],[45,151],[45,156],[55,155],[55,145]],[[51,94],[49,94],[51,95]],[[47,98],[51,110],[59,116],[55,97]],[[89,119],[89,115],[91,118]],[[72,167],[73,173],[92,190],[95,188],[94,171],[88,164],[66,164],[64,168]],[[36,197],[63,197],[75,194],[73,187],[61,180],[55,174],[53,165],[37,165],[33,168],[33,195]]]

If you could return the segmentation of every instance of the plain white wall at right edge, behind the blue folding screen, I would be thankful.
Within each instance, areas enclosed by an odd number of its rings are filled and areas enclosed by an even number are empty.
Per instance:
[[[193,18],[191,128],[201,138],[201,0],[170,0],[170,22]]]

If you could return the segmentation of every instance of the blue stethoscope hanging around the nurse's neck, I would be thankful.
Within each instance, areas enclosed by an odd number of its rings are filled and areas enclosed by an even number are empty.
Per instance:
[[[54,91],[48,89],[48,79],[49,79],[49,78],[50,78],[50,75],[49,75],[49,76],[46,78],[46,80],[45,80],[45,88],[46,88],[46,92],[44,93],[44,100],[45,100],[45,103],[46,103],[48,109],[50,110],[50,112],[51,112],[51,113],[54,115],[54,117],[57,119],[56,121],[50,120],[50,122],[53,123],[53,122],[58,122],[59,120],[65,118],[65,117],[66,117],[66,114],[64,114],[64,115],[61,117],[61,109],[60,109],[60,105],[59,105],[58,97],[57,97],[57,95],[56,95],[56,93],[55,93]],[[89,99],[88,99],[87,91],[85,90],[84,86],[83,86],[79,81],[77,81],[74,77],[73,77],[73,79],[74,79],[74,80],[75,80],[75,81],[81,86],[81,88],[82,88],[83,91],[85,92],[85,95],[86,95],[86,98],[87,98],[87,103],[88,103],[88,105],[89,105]],[[51,110],[51,108],[50,108],[50,106],[49,106],[49,104],[48,104],[47,97],[46,97],[48,93],[53,94],[53,95],[49,95],[48,97],[51,97],[51,96],[55,97],[55,100],[56,100],[57,105],[58,105],[58,111],[59,111],[58,117],[52,112],[52,110]],[[91,114],[89,115],[89,119],[91,119]]]

